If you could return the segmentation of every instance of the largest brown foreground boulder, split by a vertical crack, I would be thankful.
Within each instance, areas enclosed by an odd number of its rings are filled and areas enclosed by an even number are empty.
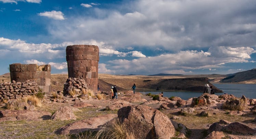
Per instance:
[[[123,107],[118,111],[118,118],[137,139],[169,139],[175,135],[170,119],[145,105]]]

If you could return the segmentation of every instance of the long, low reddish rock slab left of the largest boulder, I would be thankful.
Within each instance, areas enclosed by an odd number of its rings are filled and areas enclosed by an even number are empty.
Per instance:
[[[76,121],[63,126],[55,131],[56,134],[69,135],[80,133],[87,130],[98,130],[100,126],[117,117],[117,114],[106,114],[98,117],[92,117],[86,120]]]

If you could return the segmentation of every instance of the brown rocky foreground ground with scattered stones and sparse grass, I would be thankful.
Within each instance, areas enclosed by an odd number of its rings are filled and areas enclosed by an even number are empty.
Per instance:
[[[32,107],[29,110],[4,110],[6,103],[2,103],[0,138],[74,138],[77,137],[74,136],[75,129],[84,131],[84,129],[98,128],[104,122],[117,117],[118,110],[127,106],[140,107],[142,110],[145,107],[154,111],[153,113],[156,113],[155,110],[163,113],[172,120],[174,126],[177,126],[175,134],[170,135],[172,138],[256,138],[256,108],[255,105],[249,105],[248,99],[246,99],[248,107],[245,110],[231,111],[222,108],[226,100],[234,99],[229,95],[223,98],[208,95],[207,98],[210,100],[199,97],[196,105],[192,98],[182,100],[175,97],[169,100],[158,97],[157,100],[152,100],[152,97],[139,92],[132,94],[131,91],[120,92],[118,99],[109,99],[109,97],[106,95],[103,100],[81,99],[75,96],[53,99],[51,95],[46,95],[42,100],[42,107]],[[142,113],[145,115],[147,111]],[[159,120],[158,122],[161,123]],[[236,128],[239,130],[234,130]],[[245,128],[246,131],[242,132]]]

